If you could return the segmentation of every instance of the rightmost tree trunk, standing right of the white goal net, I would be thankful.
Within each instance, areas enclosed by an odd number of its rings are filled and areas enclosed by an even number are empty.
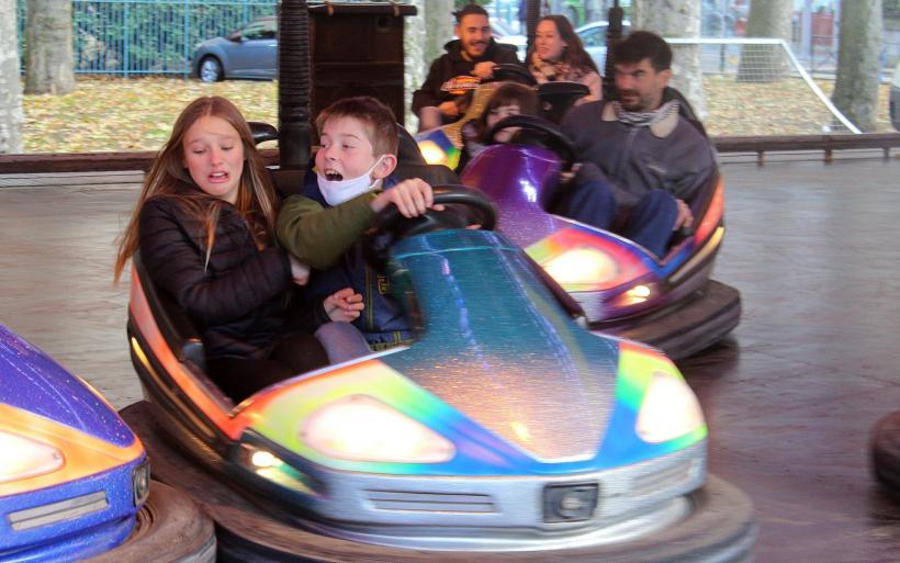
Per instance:
[[[842,2],[840,33],[837,81],[831,100],[859,130],[875,131],[881,0]]]

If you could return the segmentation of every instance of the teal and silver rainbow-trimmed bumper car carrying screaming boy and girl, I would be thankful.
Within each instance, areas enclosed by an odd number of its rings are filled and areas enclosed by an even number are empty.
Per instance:
[[[517,245],[463,228],[493,225],[482,192],[437,191],[448,211],[389,211],[371,245],[416,341],[240,404],[135,258],[147,401],[122,414],[216,520],[220,561],[750,561],[751,503],[707,475],[677,368],[585,330]]]

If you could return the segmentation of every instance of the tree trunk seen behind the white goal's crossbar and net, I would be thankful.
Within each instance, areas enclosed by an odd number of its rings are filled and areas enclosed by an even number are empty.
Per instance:
[[[791,0],[753,0],[750,4],[746,37],[772,37],[790,44]],[[739,82],[774,82],[787,70],[787,59],[781,48],[774,45],[744,45]]]

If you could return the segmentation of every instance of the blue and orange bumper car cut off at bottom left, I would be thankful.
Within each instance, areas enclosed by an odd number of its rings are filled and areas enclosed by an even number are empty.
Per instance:
[[[0,561],[214,561],[212,521],[116,413],[2,324],[0,451]]]

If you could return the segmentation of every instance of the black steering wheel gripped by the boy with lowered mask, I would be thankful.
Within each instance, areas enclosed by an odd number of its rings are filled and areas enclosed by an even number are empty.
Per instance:
[[[481,190],[447,184],[432,188],[432,192],[435,204],[447,206],[443,211],[429,209],[424,215],[408,218],[396,205],[389,205],[375,215],[372,228],[362,238],[365,259],[373,268],[384,269],[387,249],[402,238],[475,224],[493,230],[497,224],[497,207]]]

